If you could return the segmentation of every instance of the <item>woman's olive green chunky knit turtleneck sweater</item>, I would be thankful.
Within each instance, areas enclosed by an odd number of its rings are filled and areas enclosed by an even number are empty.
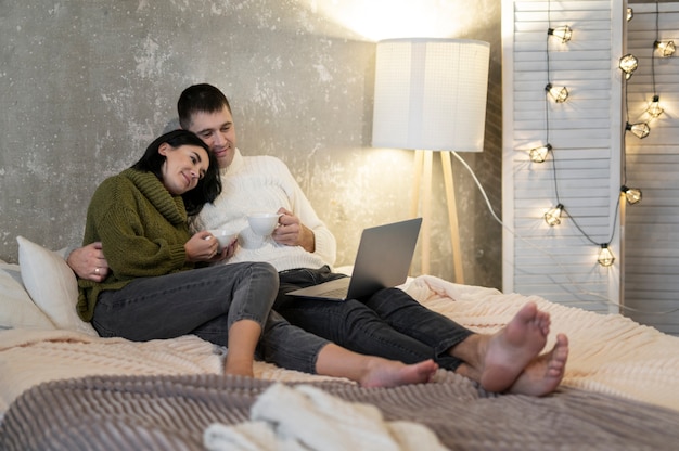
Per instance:
[[[110,273],[101,283],[78,279],[80,318],[91,321],[102,291],[192,269],[184,250],[190,237],[181,196],[172,196],[155,175],[126,169],[104,180],[90,202],[82,245],[102,242]]]

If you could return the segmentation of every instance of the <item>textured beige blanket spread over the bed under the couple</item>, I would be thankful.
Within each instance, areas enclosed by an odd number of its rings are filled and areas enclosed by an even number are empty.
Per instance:
[[[679,410],[679,338],[620,315],[563,307],[539,297],[504,295],[420,276],[405,287],[427,307],[467,327],[490,333],[526,301],[552,314],[552,334],[571,340],[564,385],[617,395]],[[194,336],[132,343],[68,331],[0,332],[0,414],[25,389],[47,381],[87,375],[219,374],[219,348]],[[257,363],[268,381],[322,381],[322,377]],[[326,378],[325,378],[326,379]]]

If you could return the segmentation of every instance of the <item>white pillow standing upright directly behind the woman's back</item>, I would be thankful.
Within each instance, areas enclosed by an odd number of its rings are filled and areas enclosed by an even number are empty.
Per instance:
[[[94,327],[76,312],[76,274],[56,253],[17,236],[18,265],[26,291],[57,328],[98,336]]]

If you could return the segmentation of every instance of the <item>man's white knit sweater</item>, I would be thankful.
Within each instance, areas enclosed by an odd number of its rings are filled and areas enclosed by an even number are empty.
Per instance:
[[[272,156],[243,156],[236,149],[233,162],[221,169],[220,175],[221,194],[213,204],[205,205],[192,227],[194,230],[223,229],[239,234],[239,248],[228,263],[267,261],[278,271],[334,265],[335,237],[316,215],[283,162]],[[292,211],[313,231],[313,253],[300,246],[277,244],[271,239],[262,242],[249,230],[248,212],[276,212],[280,207]]]

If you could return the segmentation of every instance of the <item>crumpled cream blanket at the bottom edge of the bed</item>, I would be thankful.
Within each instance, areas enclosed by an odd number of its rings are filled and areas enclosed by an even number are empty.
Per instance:
[[[215,423],[203,436],[209,451],[438,451],[427,427],[386,422],[374,405],[348,402],[310,385],[273,384],[251,409],[251,421]]]

